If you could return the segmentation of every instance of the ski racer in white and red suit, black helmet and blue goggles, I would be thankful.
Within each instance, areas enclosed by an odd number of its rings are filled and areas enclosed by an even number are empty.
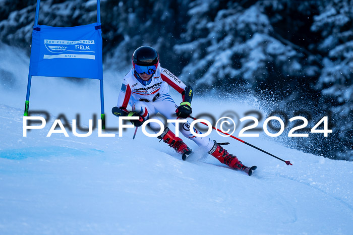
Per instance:
[[[192,113],[193,89],[160,66],[159,55],[154,48],[150,46],[137,48],[132,56],[132,64],[133,68],[125,75],[117,105],[112,108],[114,115],[138,116],[139,120],[130,120],[135,127],[140,127],[151,115],[157,112],[168,120],[188,118]],[[183,102],[180,105],[176,105],[169,95],[169,86],[181,94]],[[127,109],[128,104],[131,105],[132,111]],[[156,117],[153,118],[156,119]],[[155,133],[160,131],[160,126],[155,122],[149,123],[148,126]],[[195,133],[201,133],[196,129],[194,131]],[[194,136],[190,132],[189,122],[182,124],[180,132],[221,163],[234,169],[243,170],[249,175],[252,173],[249,167],[243,165],[236,156],[229,154],[216,141],[212,141],[208,137]],[[157,138],[163,140],[164,143],[180,154],[191,153],[190,148],[183,140],[175,136],[168,127]]]

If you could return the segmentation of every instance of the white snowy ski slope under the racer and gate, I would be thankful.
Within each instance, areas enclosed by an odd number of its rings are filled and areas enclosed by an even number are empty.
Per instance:
[[[104,78],[107,127],[117,127],[110,108],[121,80]],[[293,163],[287,166],[212,133],[243,163],[258,166],[248,177],[190,141],[196,154],[184,162],[141,130],[135,140],[134,130],[124,137],[98,137],[97,130],[86,138],[46,137],[59,113],[69,120],[80,113],[88,124],[92,109],[99,111],[94,80],[33,79],[30,110],[53,116],[23,137],[26,80],[0,92],[0,234],[351,234],[353,162],[288,149],[264,134],[243,138]],[[210,109],[243,114],[261,107],[251,99],[195,97],[195,114]]]

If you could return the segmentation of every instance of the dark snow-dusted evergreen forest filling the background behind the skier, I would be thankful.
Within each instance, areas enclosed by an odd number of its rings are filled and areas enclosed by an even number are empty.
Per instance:
[[[39,24],[93,23],[95,3],[43,0]],[[0,1],[0,40],[28,54],[35,4]],[[353,160],[351,9],[349,0],[105,0],[104,66],[126,71],[137,47],[153,46],[161,64],[199,93],[252,91],[264,98],[269,113],[307,110],[311,126],[315,116],[332,116],[331,138],[292,142],[315,154]],[[320,147],[308,145],[314,141]]]

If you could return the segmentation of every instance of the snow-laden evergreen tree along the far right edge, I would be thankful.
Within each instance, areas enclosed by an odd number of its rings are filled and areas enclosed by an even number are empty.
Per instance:
[[[316,83],[322,107],[332,113],[338,159],[353,160],[353,2],[326,1],[311,29],[321,33],[318,50],[324,56]]]

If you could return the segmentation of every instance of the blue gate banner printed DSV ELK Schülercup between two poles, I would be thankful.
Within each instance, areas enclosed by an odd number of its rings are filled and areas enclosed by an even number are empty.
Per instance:
[[[30,76],[103,79],[100,23],[33,28]]]

